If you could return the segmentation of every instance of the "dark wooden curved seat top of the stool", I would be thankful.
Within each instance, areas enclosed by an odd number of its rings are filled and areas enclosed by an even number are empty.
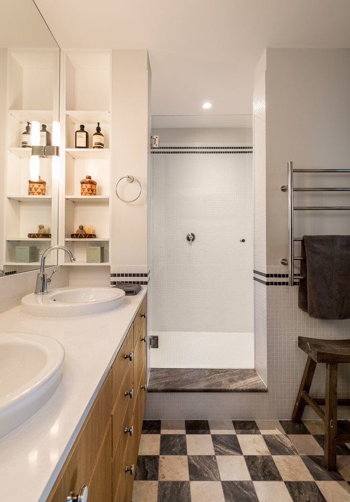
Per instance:
[[[315,363],[350,363],[350,339],[322,340],[299,336],[298,347]]]

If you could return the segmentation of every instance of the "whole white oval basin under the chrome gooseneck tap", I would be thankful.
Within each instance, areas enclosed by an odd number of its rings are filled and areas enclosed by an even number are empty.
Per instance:
[[[68,287],[51,290],[46,295],[24,296],[21,301],[25,314],[42,317],[71,317],[107,312],[123,305],[125,292],[117,288]]]

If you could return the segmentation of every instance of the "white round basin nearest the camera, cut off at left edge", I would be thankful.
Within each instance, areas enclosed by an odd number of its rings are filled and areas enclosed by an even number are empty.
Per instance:
[[[43,335],[0,333],[0,438],[51,398],[60,382],[64,348]]]

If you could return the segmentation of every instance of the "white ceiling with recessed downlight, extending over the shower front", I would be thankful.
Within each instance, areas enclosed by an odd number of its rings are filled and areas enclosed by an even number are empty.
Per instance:
[[[350,47],[349,0],[36,3],[63,49],[148,49],[153,115],[251,114],[265,47]]]

